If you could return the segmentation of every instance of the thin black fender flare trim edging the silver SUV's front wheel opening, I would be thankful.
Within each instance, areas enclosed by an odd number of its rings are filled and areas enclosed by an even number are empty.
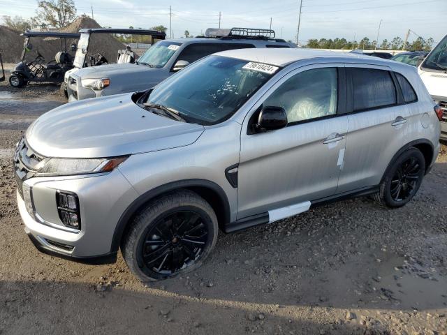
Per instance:
[[[122,235],[124,234],[128,223],[131,221],[133,215],[135,215],[144,204],[149,202],[149,200],[152,200],[163,193],[175,191],[181,188],[194,187],[209,188],[211,191],[214,191],[214,193],[219,196],[221,204],[223,204],[224,221],[230,222],[230,203],[228,202],[228,197],[226,196],[226,193],[225,191],[223,191],[221,186],[207,179],[184,179],[173,181],[168,184],[157,186],[156,188],[143,193],[137,199],[133,200],[129,207],[127,207],[126,210],[123,212],[123,214],[119,218],[117,225],[115,226],[115,232],[113,232],[110,252],[116,253],[118,251],[121,244]]]

